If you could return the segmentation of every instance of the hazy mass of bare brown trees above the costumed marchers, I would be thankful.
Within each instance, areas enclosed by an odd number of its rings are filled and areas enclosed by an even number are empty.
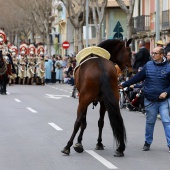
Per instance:
[[[9,37],[15,32],[28,42],[30,33],[36,33],[50,49],[49,16],[52,0],[0,0],[0,3],[3,4],[0,26],[5,28]]]

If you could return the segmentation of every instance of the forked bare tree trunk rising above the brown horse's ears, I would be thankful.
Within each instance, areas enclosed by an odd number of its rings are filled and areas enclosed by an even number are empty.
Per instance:
[[[129,39],[132,37],[132,16],[135,0],[129,0],[129,8],[127,8],[123,0],[116,0],[116,2],[120,6],[120,8],[126,13],[127,39]]]

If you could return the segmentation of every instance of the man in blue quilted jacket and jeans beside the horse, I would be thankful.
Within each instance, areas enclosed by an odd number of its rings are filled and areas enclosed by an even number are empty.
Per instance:
[[[150,150],[157,114],[160,113],[167,145],[170,152],[170,65],[162,47],[156,47],[148,61],[134,77],[119,85],[119,88],[145,80],[143,93],[146,111],[145,143],[143,151]]]

